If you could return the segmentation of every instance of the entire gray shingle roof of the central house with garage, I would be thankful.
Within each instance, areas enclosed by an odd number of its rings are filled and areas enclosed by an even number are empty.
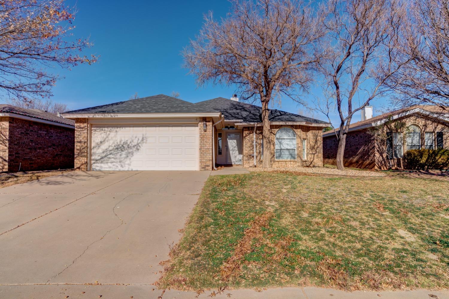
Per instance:
[[[242,122],[255,123],[262,121],[262,107],[248,103],[217,97],[215,99],[191,103],[163,94],[140,99],[73,110],[64,114],[79,113],[214,113],[221,112],[225,119],[241,119]],[[69,115],[67,115],[69,116]],[[69,116],[70,117],[70,116]],[[273,122],[306,122],[325,124],[327,122],[312,119],[277,109],[270,110],[270,121]]]

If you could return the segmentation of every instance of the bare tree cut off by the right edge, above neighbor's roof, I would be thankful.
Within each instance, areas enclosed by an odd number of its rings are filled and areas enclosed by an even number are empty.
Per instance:
[[[405,53],[412,63],[386,84],[395,87],[396,106],[449,106],[449,0],[414,0]]]

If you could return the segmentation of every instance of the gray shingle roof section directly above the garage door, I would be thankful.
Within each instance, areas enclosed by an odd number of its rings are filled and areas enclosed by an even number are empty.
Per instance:
[[[112,104],[95,106],[85,109],[64,112],[64,114],[78,113],[207,113],[214,110],[203,110],[193,103],[183,101],[164,94],[142,97],[139,99],[122,101]]]

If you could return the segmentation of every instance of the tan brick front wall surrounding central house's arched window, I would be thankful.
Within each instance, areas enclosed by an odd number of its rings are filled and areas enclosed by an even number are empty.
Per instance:
[[[296,133],[296,160],[276,160],[275,159],[275,136],[277,130],[283,127],[291,128]],[[256,167],[262,167],[262,126],[256,129]],[[254,167],[253,137],[254,127],[244,127],[243,136],[243,166]],[[271,139],[271,164],[273,167],[304,167],[304,166],[322,166],[322,138],[321,128],[307,126],[282,126],[272,125],[270,128]],[[307,160],[303,160],[302,140],[306,139]]]

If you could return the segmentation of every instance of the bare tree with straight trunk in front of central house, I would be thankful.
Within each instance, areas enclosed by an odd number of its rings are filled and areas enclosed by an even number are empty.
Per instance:
[[[184,50],[185,65],[199,86],[236,84],[243,100],[260,100],[264,154],[271,167],[269,102],[282,95],[299,100],[319,61],[317,43],[325,35],[323,14],[303,0],[233,0],[220,22],[212,13],[197,39]]]

